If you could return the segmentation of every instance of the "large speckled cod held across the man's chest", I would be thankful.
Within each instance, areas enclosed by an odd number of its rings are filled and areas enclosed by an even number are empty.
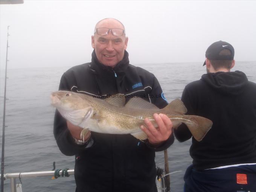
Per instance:
[[[154,113],[166,114],[177,128],[185,123],[193,137],[200,141],[212,127],[212,121],[200,116],[184,115],[186,107],[175,99],[165,108],[159,109],[142,98],[131,98],[125,104],[125,96],[116,94],[99,99],[71,91],[56,91],[51,95],[52,105],[73,125],[84,128],[81,135],[90,131],[109,134],[131,134],[140,140],[147,135],[140,129],[147,117],[155,127]]]

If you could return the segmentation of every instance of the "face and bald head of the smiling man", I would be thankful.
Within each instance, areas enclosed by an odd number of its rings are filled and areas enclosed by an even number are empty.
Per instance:
[[[124,29],[121,23],[113,19],[101,21],[97,24],[96,28],[100,27]],[[127,42],[128,38],[124,34],[122,36],[115,36],[111,31],[108,32],[108,35],[98,35],[96,32],[94,36],[91,36],[91,46],[95,49],[99,62],[110,67],[116,66],[123,59]]]

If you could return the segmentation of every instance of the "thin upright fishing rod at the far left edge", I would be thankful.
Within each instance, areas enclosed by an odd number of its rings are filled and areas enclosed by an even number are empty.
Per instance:
[[[5,169],[5,104],[6,104],[6,79],[7,79],[7,62],[8,62],[8,37],[9,26],[7,27],[7,47],[6,47],[6,63],[5,63],[5,96],[3,101],[3,134],[2,134],[2,161],[1,161],[1,192],[3,192],[4,169]]]

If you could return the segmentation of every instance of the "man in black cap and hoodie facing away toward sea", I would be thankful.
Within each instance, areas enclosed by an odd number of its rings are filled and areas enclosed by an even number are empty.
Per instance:
[[[184,175],[184,192],[248,192],[256,189],[256,84],[234,67],[234,48],[224,41],[206,50],[207,74],[186,85],[181,100],[187,114],[212,120],[203,140],[186,125],[174,130],[184,142],[192,137],[193,163]]]

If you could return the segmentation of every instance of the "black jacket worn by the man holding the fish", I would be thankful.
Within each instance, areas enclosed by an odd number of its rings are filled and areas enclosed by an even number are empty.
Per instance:
[[[72,67],[62,75],[59,90],[99,96],[117,93],[139,96],[163,108],[162,88],[152,73],[129,64],[128,52],[114,68],[99,63],[95,52],[90,63]],[[66,120],[55,114],[54,136],[65,155],[76,155],[75,180],[78,192],[150,192],[156,191],[155,151],[162,151],[174,142],[172,136],[159,148],[130,134],[91,133],[93,146],[85,148],[73,143]]]

